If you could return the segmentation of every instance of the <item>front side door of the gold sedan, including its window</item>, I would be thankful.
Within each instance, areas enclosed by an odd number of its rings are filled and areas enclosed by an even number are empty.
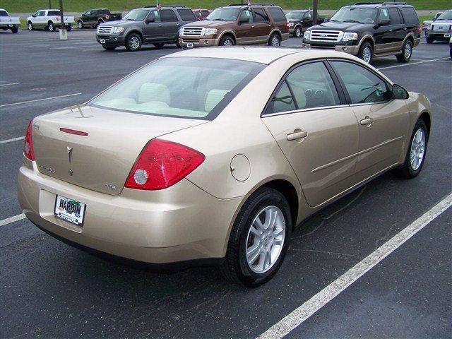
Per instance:
[[[393,100],[391,85],[353,61],[331,61],[359,121],[357,179],[364,180],[403,159],[410,123],[404,100]]]

